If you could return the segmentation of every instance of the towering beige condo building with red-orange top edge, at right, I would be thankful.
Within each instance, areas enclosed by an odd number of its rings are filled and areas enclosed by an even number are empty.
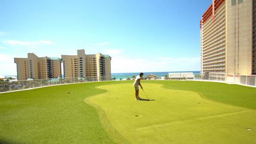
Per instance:
[[[256,74],[255,0],[213,0],[200,34],[202,73]]]

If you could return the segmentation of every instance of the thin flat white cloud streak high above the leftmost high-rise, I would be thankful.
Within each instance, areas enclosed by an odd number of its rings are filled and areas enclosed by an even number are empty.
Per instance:
[[[28,48],[37,48],[39,45],[52,45],[52,41],[49,40],[38,40],[38,41],[21,41],[21,40],[4,40],[4,44],[13,47],[23,46]]]

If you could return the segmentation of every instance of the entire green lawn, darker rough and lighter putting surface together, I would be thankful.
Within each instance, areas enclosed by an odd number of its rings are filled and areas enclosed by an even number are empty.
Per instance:
[[[142,85],[155,101],[135,101],[131,81],[1,94],[0,143],[256,142],[255,88],[195,81]]]

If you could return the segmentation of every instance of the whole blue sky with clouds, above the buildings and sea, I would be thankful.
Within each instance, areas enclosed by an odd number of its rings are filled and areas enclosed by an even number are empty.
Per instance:
[[[199,20],[211,4],[195,1],[0,0],[0,75],[14,57],[102,53],[112,72],[200,70]]]

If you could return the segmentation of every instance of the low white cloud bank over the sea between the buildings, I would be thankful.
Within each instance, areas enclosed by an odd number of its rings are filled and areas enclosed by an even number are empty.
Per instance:
[[[200,70],[200,57],[140,59],[120,55],[113,57],[111,61],[111,71],[113,73],[196,70]]]

